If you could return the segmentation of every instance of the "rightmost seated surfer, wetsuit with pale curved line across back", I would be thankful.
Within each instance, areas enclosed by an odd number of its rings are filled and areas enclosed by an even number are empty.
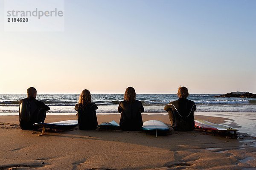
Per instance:
[[[171,126],[176,131],[192,131],[195,127],[194,111],[195,102],[187,99],[189,91],[186,87],[179,87],[179,99],[170,102],[164,107],[168,111]]]

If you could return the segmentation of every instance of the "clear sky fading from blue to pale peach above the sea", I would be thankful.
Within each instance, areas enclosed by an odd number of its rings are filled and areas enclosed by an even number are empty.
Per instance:
[[[256,93],[255,0],[65,0],[59,32],[4,31],[0,94]]]

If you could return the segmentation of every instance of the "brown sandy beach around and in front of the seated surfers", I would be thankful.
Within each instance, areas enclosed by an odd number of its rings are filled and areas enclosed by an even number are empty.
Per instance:
[[[120,115],[98,115],[98,122],[119,122]],[[48,115],[45,122],[76,119],[75,115]],[[167,115],[143,114],[169,125]],[[195,116],[223,123],[224,118]],[[167,136],[142,131],[20,130],[18,116],[0,116],[0,170],[121,170],[121,169],[256,169],[255,137],[230,139],[198,130]],[[254,144],[254,145],[253,145]]]

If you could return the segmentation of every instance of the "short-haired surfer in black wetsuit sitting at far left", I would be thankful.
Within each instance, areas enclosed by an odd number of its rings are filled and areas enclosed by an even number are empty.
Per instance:
[[[36,100],[36,89],[30,87],[27,89],[27,98],[20,100],[19,105],[19,121],[22,130],[37,130],[38,127],[33,126],[34,123],[44,122],[46,111],[50,108],[44,102]]]

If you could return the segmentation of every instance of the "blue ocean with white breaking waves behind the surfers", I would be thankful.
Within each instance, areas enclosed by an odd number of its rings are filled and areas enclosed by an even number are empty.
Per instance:
[[[214,97],[219,94],[190,94],[188,99],[197,105],[196,112],[256,112],[256,99]],[[144,113],[167,113],[164,106],[177,100],[176,94],[137,94],[143,103]],[[19,100],[26,94],[0,94],[0,115],[18,115]],[[47,114],[76,114],[74,107],[79,94],[38,94],[37,99],[50,107]],[[97,114],[117,114],[123,94],[92,94],[98,105]]]

